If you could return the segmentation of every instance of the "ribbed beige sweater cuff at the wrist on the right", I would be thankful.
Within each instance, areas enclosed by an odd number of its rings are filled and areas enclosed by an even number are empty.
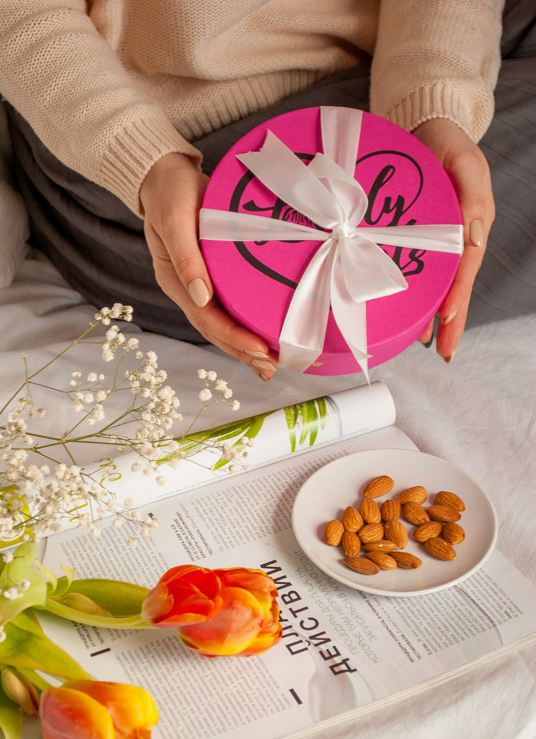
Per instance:
[[[448,82],[426,84],[414,89],[399,103],[396,103],[384,117],[406,131],[413,131],[430,118],[448,118],[448,120],[453,120],[473,141],[478,141],[484,134],[484,131],[473,131],[470,123],[470,110],[464,95],[461,95],[459,89],[455,89]]]

